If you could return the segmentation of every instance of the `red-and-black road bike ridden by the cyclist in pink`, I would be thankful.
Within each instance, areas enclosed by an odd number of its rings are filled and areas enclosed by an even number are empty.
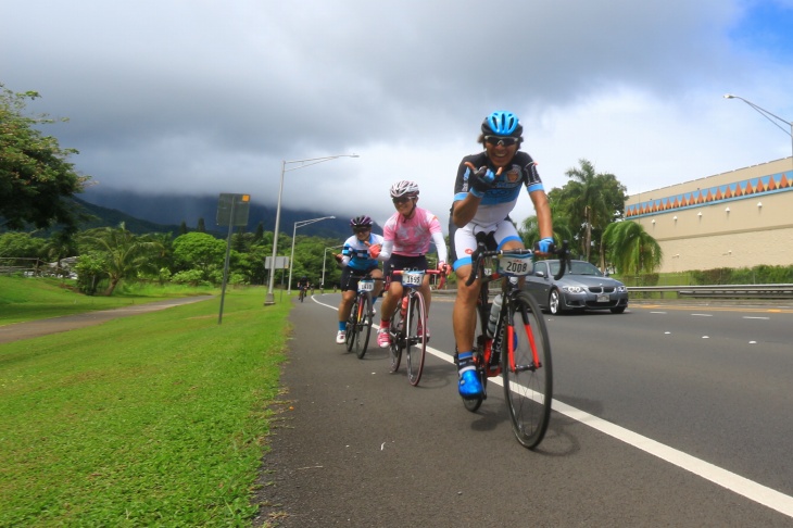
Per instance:
[[[445,274],[438,269],[395,269],[391,274],[402,275],[402,299],[389,326],[391,372],[399,370],[402,351],[405,351],[407,380],[415,387],[421,379],[428,341],[427,302],[418,288],[424,282],[425,275],[440,275],[439,288],[443,288]]]

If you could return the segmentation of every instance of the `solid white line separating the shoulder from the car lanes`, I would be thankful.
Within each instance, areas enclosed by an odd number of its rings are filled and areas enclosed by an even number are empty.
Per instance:
[[[314,302],[316,302],[317,304],[322,304],[323,306],[338,310],[337,306],[325,304],[314,298],[313,300]],[[379,326],[377,325],[372,326],[379,328]],[[445,361],[446,363],[454,363],[454,359],[452,355],[433,349],[432,347],[427,347],[427,352],[442,361]],[[501,378],[491,378],[488,380],[488,382],[491,381],[503,387]],[[558,400],[553,401],[552,408],[559,414],[563,414],[571,419],[575,419],[576,422],[579,422],[580,424],[589,426],[597,431],[604,432],[612,438],[616,438],[617,440],[620,440],[628,445],[632,445],[633,448],[640,449],[645,453],[649,453],[665,462],[674,464],[681,469],[685,469],[687,472],[709,480],[715,485],[733,491],[739,495],[745,496],[751,501],[763,504],[764,506],[770,507],[771,510],[776,510],[777,512],[784,514],[789,517],[793,517],[793,496],[785,495],[784,493],[757,483],[754,480],[741,477],[740,475],[737,475],[732,472],[728,472],[727,469],[710,464],[709,462],[705,462],[703,460],[685,454],[682,451],[678,451],[660,442],[656,442],[651,438],[643,437],[642,435],[628,430],[625,427],[620,427],[616,424],[606,422],[605,419],[599,418],[597,416],[589,414],[584,411],[567,405],[566,403],[562,403]]]

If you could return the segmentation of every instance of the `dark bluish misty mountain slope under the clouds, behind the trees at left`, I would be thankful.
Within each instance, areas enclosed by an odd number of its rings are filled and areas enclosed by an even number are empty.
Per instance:
[[[189,230],[194,230],[198,226],[199,218],[204,219],[206,231],[225,235],[228,229],[225,226],[218,226],[216,224],[219,196],[192,197],[163,193],[152,196],[126,191],[100,191],[88,188],[86,192],[79,194],[78,198],[88,202],[88,204],[98,205],[106,210],[114,210],[129,215],[135,219],[142,221],[144,225],[150,223],[152,224],[152,229],[149,230],[149,232],[174,231],[176,235],[179,225],[182,222],[185,222]],[[297,232],[298,235],[304,236],[347,239],[351,235],[350,218],[333,212],[332,203],[329,203],[328,205],[328,210],[325,211],[289,210],[281,208],[279,230],[291,237],[295,222],[320,218],[323,216],[337,216],[332,219],[325,219],[301,226],[298,228]],[[90,208],[88,209],[90,211]],[[98,214],[96,210],[91,211],[91,213],[106,219],[106,213]],[[275,208],[267,208],[251,203],[247,230],[251,232],[255,231],[256,226],[261,222],[264,225],[265,231],[273,231],[275,229]],[[124,217],[118,216],[117,222],[111,223],[111,221],[108,219],[108,224],[117,225],[118,222],[122,221],[125,221]],[[135,231],[139,230],[131,229],[128,218],[126,222],[127,228]],[[161,228],[154,228],[156,226],[160,226]],[[92,225],[91,227],[96,226]],[[148,229],[148,227],[146,228]],[[376,227],[376,230],[380,229]]]

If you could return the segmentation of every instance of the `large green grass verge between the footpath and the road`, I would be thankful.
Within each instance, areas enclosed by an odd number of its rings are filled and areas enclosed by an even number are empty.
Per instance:
[[[263,299],[0,345],[0,526],[249,526],[291,306]]]

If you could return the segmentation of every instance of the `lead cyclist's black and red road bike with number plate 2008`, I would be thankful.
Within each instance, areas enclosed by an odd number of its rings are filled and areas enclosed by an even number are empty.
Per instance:
[[[558,280],[565,268],[570,267],[567,241],[551,253],[562,261],[555,276]],[[531,273],[531,259],[536,254],[539,252],[530,249],[488,250],[480,239],[471,254],[471,274],[466,281],[470,286],[477,276],[481,280],[477,300],[480,331],[473,352],[484,392],[474,399],[463,399],[463,404],[476,412],[487,399],[488,378],[501,376],[513,432],[528,449],[536,448],[545,436],[553,399],[551,340],[545,320],[537,301],[518,286],[519,277]],[[501,297],[491,303],[489,287],[496,280],[501,280]],[[454,363],[458,365],[456,348]]]

